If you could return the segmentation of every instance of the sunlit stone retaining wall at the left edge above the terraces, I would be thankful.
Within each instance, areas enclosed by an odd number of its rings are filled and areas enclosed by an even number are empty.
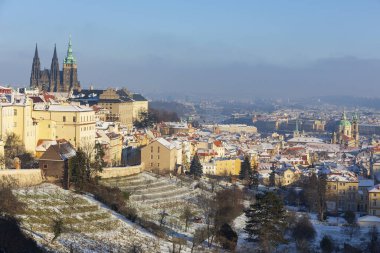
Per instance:
[[[40,169],[0,170],[0,183],[11,183],[18,187],[33,186],[43,181]]]

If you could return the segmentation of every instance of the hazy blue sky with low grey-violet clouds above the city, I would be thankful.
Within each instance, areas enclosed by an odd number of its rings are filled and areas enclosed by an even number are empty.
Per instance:
[[[0,0],[0,84],[35,44],[83,87],[224,98],[380,94],[379,0]]]

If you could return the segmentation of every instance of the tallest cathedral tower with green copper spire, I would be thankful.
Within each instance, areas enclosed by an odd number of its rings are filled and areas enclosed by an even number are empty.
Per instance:
[[[80,89],[80,84],[78,82],[77,64],[73,56],[73,49],[71,45],[71,36],[69,39],[69,47],[67,49],[67,56],[63,61],[63,76],[62,76],[62,86],[58,91],[70,91]]]

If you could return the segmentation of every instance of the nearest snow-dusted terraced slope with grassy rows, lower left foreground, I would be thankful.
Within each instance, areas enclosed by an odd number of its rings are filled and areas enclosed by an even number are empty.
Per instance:
[[[14,190],[27,204],[19,215],[23,229],[47,249],[58,252],[168,252],[170,244],[120,218],[91,197],[51,185]],[[64,233],[52,241],[53,220],[62,219]],[[187,248],[183,252],[187,252]]]

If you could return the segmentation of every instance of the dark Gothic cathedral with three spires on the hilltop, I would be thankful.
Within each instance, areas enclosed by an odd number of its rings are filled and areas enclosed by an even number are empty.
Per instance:
[[[41,70],[38,49],[33,57],[32,73],[30,75],[30,87],[50,92],[68,92],[80,89],[76,60],[73,56],[71,37],[67,49],[67,56],[63,61],[63,69],[59,69],[57,49],[54,46],[54,54],[50,69]]]

